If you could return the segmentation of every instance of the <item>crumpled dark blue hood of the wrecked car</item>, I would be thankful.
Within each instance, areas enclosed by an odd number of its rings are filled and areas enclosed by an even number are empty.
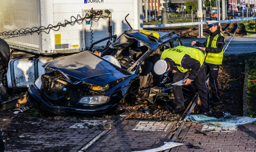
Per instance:
[[[90,51],[57,58],[42,66],[58,70],[60,73],[71,76],[85,84],[102,87],[114,80],[131,75],[126,70],[107,62]]]

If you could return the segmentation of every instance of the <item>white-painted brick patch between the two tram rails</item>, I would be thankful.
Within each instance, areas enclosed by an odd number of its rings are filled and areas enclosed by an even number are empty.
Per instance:
[[[152,121],[140,121],[135,126],[133,131],[167,131],[172,123],[168,122],[152,122]]]

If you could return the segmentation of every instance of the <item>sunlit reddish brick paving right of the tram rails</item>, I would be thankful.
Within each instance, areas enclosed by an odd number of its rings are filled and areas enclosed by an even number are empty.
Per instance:
[[[196,133],[215,128],[216,131]],[[208,127],[200,123],[186,122],[175,142],[184,143],[172,148],[171,152],[256,152],[256,125],[246,124],[238,127]],[[193,144],[202,149],[187,148]]]

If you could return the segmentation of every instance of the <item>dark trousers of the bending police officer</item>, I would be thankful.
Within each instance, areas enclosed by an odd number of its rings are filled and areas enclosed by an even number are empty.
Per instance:
[[[184,78],[186,73],[176,72],[174,73],[173,82],[178,82]],[[202,112],[209,112],[209,91],[208,86],[206,84],[206,73],[204,70],[204,65],[200,67],[200,70],[194,79],[194,84],[198,88],[199,98],[202,104]],[[184,106],[184,97],[182,92],[182,86],[173,86],[173,93],[175,98],[176,106]]]

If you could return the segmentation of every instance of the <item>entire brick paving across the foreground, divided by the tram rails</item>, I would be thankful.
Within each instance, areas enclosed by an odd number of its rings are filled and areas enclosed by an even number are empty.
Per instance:
[[[17,125],[16,131],[9,131],[4,136],[5,152],[78,152],[102,133],[100,126],[112,120],[54,120],[8,119]],[[22,124],[22,125],[20,125]],[[131,152],[157,148],[164,144],[174,122],[124,120],[105,136],[100,138],[88,152]],[[20,127],[19,127],[20,126]],[[8,129],[8,126],[4,128]],[[29,128],[29,130],[24,129]],[[205,131],[208,135],[196,133]],[[15,144],[10,144],[15,140]],[[238,127],[208,127],[200,123],[186,122],[175,142],[184,143],[172,148],[171,152],[256,152],[256,125],[246,124]],[[202,149],[187,148],[193,144]]]

